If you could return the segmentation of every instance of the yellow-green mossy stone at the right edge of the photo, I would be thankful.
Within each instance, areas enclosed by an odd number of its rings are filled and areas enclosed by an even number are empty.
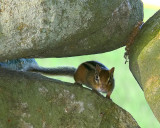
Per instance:
[[[160,121],[160,10],[144,24],[130,50],[130,70]]]

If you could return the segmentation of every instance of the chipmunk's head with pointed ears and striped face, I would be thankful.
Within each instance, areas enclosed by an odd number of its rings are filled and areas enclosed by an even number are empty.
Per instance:
[[[95,82],[97,83],[97,91],[100,92],[109,92],[114,88],[114,67],[110,70],[101,68],[99,65],[96,65],[95,69]]]

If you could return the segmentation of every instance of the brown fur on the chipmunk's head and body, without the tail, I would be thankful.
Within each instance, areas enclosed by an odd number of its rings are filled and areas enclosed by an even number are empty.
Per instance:
[[[114,68],[111,70],[101,68],[100,65],[96,65],[93,69],[86,67],[87,62],[82,63],[76,70],[74,74],[74,79],[76,83],[84,84],[97,92],[107,93],[107,98],[110,99],[110,95],[114,89]],[[87,66],[90,64],[87,64]],[[91,70],[92,69],[92,70]],[[95,81],[95,74],[99,76],[99,82]],[[111,82],[109,82],[109,79]]]

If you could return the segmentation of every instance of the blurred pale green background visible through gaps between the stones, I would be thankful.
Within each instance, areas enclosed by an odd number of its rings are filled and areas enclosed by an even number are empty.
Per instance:
[[[158,8],[144,6],[144,21],[152,16]],[[112,100],[127,110],[135,118],[141,128],[160,128],[160,124],[148,106],[143,91],[129,70],[128,63],[125,64],[124,47],[96,55],[86,55],[68,58],[36,59],[40,66],[74,66],[77,67],[84,61],[97,60],[108,68],[115,67],[115,89],[111,95]],[[68,77],[54,77],[67,82],[74,82]]]

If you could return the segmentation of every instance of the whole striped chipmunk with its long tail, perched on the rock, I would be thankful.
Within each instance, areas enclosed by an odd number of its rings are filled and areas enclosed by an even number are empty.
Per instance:
[[[114,67],[110,70],[97,61],[87,61],[79,65],[77,69],[72,67],[43,68],[32,67],[32,72],[40,72],[47,75],[68,75],[74,77],[76,84],[84,84],[97,94],[107,93],[106,98],[114,89]]]

